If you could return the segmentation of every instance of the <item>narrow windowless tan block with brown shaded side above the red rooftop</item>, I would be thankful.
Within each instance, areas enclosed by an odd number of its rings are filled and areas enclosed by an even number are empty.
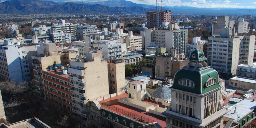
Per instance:
[[[108,64],[108,69],[110,94],[117,93],[121,90],[125,90],[125,63],[110,62]],[[114,77],[110,76],[110,74],[114,75]]]

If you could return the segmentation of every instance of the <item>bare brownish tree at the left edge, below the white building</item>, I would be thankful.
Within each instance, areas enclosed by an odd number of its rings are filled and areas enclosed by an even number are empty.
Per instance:
[[[3,93],[10,94],[12,100],[12,95],[23,93],[28,89],[27,85],[28,83],[26,81],[22,81],[16,84],[15,81],[5,80],[0,83],[0,88]]]

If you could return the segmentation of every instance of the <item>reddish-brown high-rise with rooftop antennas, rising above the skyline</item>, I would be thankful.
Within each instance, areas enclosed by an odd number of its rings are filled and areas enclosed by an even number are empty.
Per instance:
[[[163,22],[172,22],[171,10],[150,10],[147,11],[147,28],[160,27]]]

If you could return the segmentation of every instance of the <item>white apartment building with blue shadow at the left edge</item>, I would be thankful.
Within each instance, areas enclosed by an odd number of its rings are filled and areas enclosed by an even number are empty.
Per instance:
[[[36,55],[37,45],[20,46],[4,42],[0,47],[0,77],[16,83],[33,78],[31,55]]]

